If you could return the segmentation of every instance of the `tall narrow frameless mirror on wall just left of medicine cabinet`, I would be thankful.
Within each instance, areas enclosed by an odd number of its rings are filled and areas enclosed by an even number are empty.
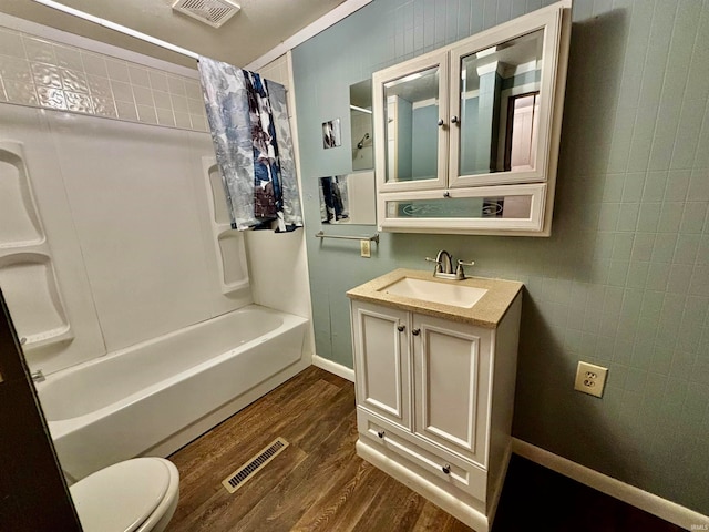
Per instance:
[[[374,167],[372,135],[372,80],[350,85],[350,126],[352,132],[352,170]]]

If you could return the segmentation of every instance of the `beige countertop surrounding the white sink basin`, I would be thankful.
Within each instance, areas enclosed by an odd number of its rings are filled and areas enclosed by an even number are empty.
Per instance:
[[[435,280],[444,284],[467,285],[476,288],[485,288],[487,293],[473,305],[472,308],[462,308],[453,305],[387,294],[386,288],[388,286],[393,285],[404,277]],[[517,283],[516,280],[487,279],[484,277],[449,280],[438,277],[434,278],[433,273],[430,270],[421,272],[418,269],[399,268],[348,290],[347,297],[494,329],[523,286],[522,283]]]

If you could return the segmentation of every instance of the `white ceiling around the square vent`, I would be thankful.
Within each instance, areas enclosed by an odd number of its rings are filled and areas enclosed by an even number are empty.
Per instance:
[[[246,66],[343,1],[236,0],[242,10],[219,29],[173,11],[173,0],[61,0],[61,3],[202,55]],[[0,0],[0,11],[173,63],[195,65],[189,58],[32,0]]]

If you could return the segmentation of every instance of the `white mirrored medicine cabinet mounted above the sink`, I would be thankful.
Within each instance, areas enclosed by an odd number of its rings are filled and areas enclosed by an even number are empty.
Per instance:
[[[382,231],[551,234],[571,0],[374,73]]]

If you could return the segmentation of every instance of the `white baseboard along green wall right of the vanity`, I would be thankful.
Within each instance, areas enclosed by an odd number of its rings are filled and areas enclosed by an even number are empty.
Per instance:
[[[623,502],[631,504],[640,510],[645,510],[653,515],[657,515],[677,526],[686,530],[707,530],[709,516],[702,515],[676,502],[668,501],[661,497],[644,491],[635,485],[626,484],[612,477],[599,473],[593,469],[572,462],[566,458],[554,454],[526,441],[512,439],[512,452],[520,454],[527,460],[544,466],[552,471],[556,471],[582,484],[614,497]],[[693,528],[692,528],[693,525]]]

